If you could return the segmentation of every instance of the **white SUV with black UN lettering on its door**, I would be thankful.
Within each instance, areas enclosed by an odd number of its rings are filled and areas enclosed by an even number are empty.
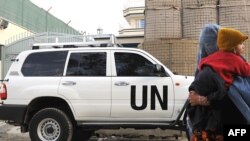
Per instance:
[[[0,120],[29,131],[32,141],[87,140],[105,128],[182,127],[193,77],[174,75],[143,50],[37,49],[13,61],[2,80]]]

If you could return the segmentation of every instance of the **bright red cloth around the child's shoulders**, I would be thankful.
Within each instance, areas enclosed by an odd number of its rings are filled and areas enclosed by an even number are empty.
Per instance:
[[[250,64],[231,52],[217,51],[203,58],[199,64],[199,70],[204,65],[211,66],[225,81],[226,87],[233,83],[235,75],[250,76]]]

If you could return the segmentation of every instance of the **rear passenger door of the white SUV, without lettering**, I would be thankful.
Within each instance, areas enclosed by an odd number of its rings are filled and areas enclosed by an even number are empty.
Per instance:
[[[78,119],[110,117],[109,51],[70,51],[59,94],[73,106]]]

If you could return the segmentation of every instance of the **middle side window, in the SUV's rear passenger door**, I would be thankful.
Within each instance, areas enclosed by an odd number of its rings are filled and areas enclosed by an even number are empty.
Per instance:
[[[67,76],[106,76],[106,53],[72,53]]]

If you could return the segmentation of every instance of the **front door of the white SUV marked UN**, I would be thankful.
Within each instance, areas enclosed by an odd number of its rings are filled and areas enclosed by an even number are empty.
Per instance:
[[[158,120],[173,114],[173,82],[157,76],[156,62],[135,51],[112,51],[112,117]]]

